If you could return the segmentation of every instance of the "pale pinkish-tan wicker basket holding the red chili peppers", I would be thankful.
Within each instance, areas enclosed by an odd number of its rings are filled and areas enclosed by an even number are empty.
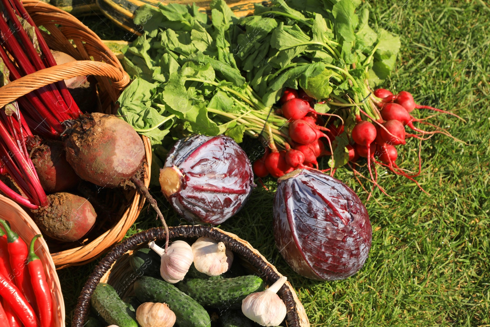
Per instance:
[[[19,204],[1,195],[0,212],[1,218],[10,223],[12,230],[17,232],[25,243],[29,244],[35,235],[41,234],[39,228]],[[41,246],[37,247],[39,244]],[[61,293],[60,281],[56,274],[56,268],[49,255],[48,245],[44,238],[39,238],[39,241],[36,242],[36,248],[35,252],[43,262],[46,280],[48,281],[51,299],[53,300],[54,321],[51,326],[65,327],[65,302],[63,302],[63,294]]]

